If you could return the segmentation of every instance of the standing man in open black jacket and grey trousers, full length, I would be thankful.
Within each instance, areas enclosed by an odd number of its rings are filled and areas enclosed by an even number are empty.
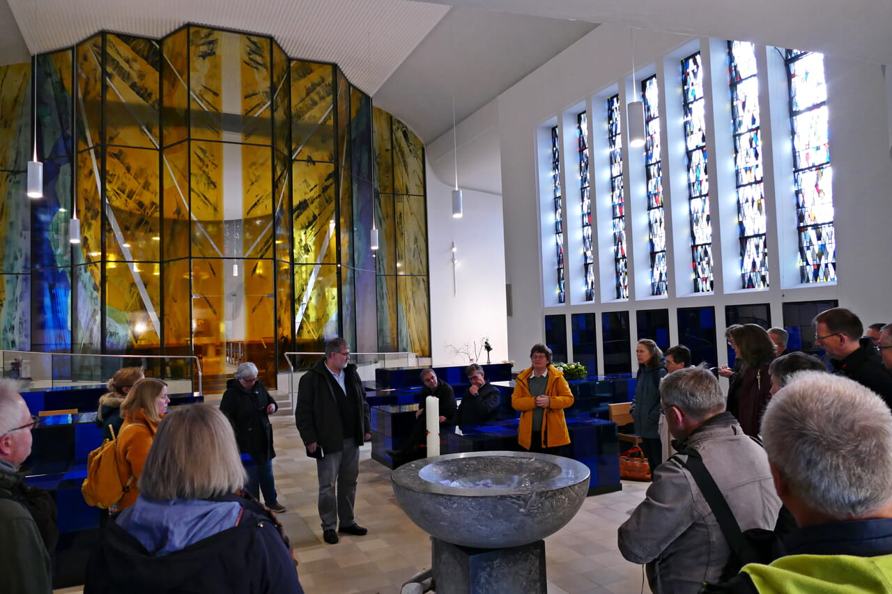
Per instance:
[[[338,542],[338,532],[368,533],[353,517],[359,446],[372,438],[365,394],[343,338],[326,342],[326,358],[311,367],[297,387],[294,420],[307,453],[316,458],[319,518],[328,544]]]

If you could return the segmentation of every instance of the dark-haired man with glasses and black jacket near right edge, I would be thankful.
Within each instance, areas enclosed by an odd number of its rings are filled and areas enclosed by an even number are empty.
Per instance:
[[[813,321],[814,344],[830,355],[833,373],[877,392],[892,408],[892,375],[883,367],[877,351],[860,342],[864,331],[861,319],[846,308],[833,308],[822,311]]]

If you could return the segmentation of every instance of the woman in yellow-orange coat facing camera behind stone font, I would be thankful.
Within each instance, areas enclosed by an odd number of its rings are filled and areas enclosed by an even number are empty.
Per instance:
[[[573,405],[573,392],[564,374],[551,365],[551,349],[534,344],[532,367],[517,374],[511,406],[520,411],[517,442],[527,450],[560,455],[570,443],[564,408]]]

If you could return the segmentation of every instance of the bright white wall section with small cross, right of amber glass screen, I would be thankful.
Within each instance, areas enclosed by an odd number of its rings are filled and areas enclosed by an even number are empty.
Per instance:
[[[427,168],[427,249],[431,279],[431,355],[434,365],[467,364],[462,348],[489,337],[493,362],[508,360],[505,241],[502,198],[463,189],[464,216],[452,218],[452,186]],[[459,181],[461,179],[459,170]],[[455,289],[452,242],[456,245]],[[486,360],[481,351],[480,359]]]

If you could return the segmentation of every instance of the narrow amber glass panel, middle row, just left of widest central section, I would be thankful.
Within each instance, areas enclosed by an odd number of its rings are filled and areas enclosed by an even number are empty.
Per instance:
[[[161,174],[164,180],[164,212],[161,219],[161,258],[172,260],[189,255],[189,144],[164,149]]]

